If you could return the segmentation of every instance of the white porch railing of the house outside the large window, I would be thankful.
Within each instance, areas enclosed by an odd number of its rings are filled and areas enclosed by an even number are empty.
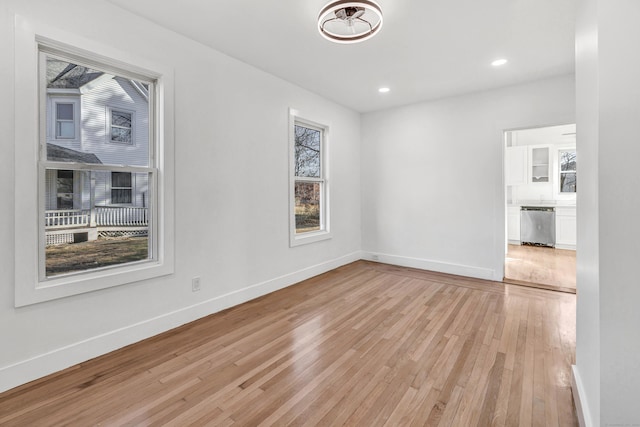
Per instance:
[[[146,227],[149,225],[147,208],[96,206],[94,213],[98,227]],[[91,211],[89,209],[45,212],[45,227],[47,229],[88,227],[90,221]]]

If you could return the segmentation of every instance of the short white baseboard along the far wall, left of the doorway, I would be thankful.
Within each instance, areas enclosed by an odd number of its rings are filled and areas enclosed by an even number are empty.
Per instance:
[[[453,264],[442,261],[432,261],[421,258],[410,258],[398,255],[381,254],[376,252],[363,252],[362,259],[368,261],[382,262],[385,264],[399,265],[401,267],[419,268],[421,270],[437,271],[439,273],[455,274],[458,276],[475,277],[476,279],[485,280],[502,280],[496,279],[496,272],[489,268],[473,267],[463,264]]]

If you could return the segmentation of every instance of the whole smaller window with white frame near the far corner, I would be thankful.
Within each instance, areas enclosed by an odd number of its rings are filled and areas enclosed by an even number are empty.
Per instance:
[[[327,127],[292,117],[291,245],[331,237]]]

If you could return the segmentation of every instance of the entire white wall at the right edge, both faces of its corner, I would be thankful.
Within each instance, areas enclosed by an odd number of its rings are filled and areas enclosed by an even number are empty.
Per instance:
[[[584,2],[578,20],[578,173],[589,192],[578,194],[576,371],[593,425],[640,423],[639,21],[635,0]]]

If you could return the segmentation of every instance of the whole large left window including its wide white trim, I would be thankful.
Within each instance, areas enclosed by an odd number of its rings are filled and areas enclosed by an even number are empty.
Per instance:
[[[171,68],[37,23],[14,41],[16,306],[172,273]]]

